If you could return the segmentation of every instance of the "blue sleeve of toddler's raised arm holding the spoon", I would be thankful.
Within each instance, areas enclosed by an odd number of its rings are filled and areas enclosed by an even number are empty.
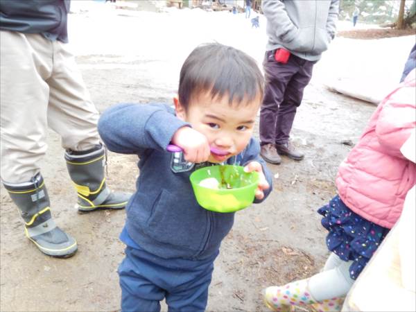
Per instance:
[[[165,150],[184,125],[167,105],[124,103],[103,112],[98,132],[113,152],[140,156],[146,149]]]

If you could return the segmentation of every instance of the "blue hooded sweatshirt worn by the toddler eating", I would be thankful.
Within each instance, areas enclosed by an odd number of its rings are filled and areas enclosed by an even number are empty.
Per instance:
[[[218,253],[232,228],[234,213],[208,211],[196,201],[189,175],[211,164],[189,163],[182,153],[166,151],[175,132],[184,125],[189,123],[177,119],[168,105],[119,104],[102,114],[98,132],[108,149],[140,158],[137,191],[126,207],[125,229],[132,241],[165,259],[202,260]],[[270,184],[264,192],[266,198],[272,179],[259,150],[259,143],[250,139],[245,150],[227,163],[244,166],[259,162]]]

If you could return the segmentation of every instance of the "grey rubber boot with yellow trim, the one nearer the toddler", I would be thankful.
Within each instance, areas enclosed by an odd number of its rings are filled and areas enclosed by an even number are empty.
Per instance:
[[[112,192],[105,184],[105,148],[76,152],[67,150],[65,160],[71,180],[78,193],[78,211],[123,209],[131,193]]]

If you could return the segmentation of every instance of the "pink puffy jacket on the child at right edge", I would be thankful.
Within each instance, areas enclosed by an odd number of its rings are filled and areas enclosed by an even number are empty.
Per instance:
[[[381,101],[336,177],[338,194],[349,209],[388,228],[395,225],[416,181],[416,165],[400,153],[416,126],[416,80],[409,76]]]

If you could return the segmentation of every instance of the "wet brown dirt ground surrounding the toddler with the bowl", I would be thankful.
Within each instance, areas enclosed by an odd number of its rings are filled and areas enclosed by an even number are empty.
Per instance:
[[[86,66],[117,62],[112,55],[89,55],[77,61],[101,112],[116,102],[171,101],[164,94],[172,90],[149,92],[146,77],[128,66],[111,70]],[[216,259],[208,311],[267,311],[262,288],[318,272],[328,252],[315,211],[336,193],[338,164],[352,148],[341,141],[356,143],[374,107],[313,83],[306,87],[293,128],[293,142],[306,157],[302,162],[284,158],[279,166],[269,165],[278,176],[268,200],[236,214],[234,228]],[[110,153],[110,187],[134,191],[139,174],[136,163],[136,157]],[[54,259],[38,252],[24,238],[17,209],[1,187],[0,310],[118,311],[116,268],[124,248],[118,235],[125,212],[77,214],[76,192],[54,132],[49,135],[42,174],[55,221],[76,237],[78,253],[70,259]]]

